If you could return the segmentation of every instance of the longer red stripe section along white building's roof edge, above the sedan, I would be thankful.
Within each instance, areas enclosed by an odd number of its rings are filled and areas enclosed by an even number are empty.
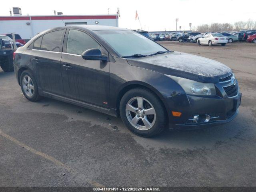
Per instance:
[[[116,19],[114,15],[98,16],[32,16],[32,20],[63,20],[63,19]]]

